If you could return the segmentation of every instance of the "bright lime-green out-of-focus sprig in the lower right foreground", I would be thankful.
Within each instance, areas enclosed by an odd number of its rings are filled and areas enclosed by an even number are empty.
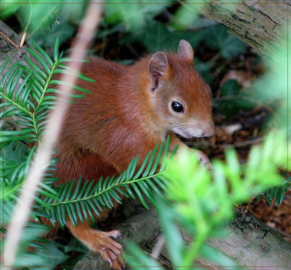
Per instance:
[[[260,190],[282,183],[277,168],[287,166],[284,140],[284,134],[270,134],[262,146],[251,149],[244,166],[239,164],[234,150],[227,150],[226,163],[212,162],[213,181],[209,172],[200,168],[197,162],[193,165],[195,159],[187,153],[169,167],[168,173],[175,179],[170,185],[169,196],[180,202],[176,210],[185,219],[183,225],[188,224],[187,228],[196,237],[190,249],[183,253],[186,264],[181,265],[189,265],[190,258],[198,255],[206,237],[215,237],[217,228],[232,218],[234,203],[242,203]],[[184,172],[183,176],[177,173],[179,171]]]

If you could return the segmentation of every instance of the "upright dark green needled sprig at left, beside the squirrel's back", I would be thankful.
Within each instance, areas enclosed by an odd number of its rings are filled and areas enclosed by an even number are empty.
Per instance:
[[[55,94],[58,93],[58,89],[49,87],[54,84],[63,84],[60,80],[52,78],[52,75],[69,72],[68,68],[63,64],[69,59],[61,59],[61,55],[58,57],[58,39],[56,39],[54,62],[40,46],[35,42],[33,44],[39,54],[29,48],[27,50],[38,60],[42,68],[39,68],[24,55],[28,66],[19,64],[19,61],[15,62],[6,71],[0,82],[0,95],[4,98],[4,102],[0,105],[1,109],[3,109],[0,113],[0,118],[15,115],[21,119],[16,122],[26,126],[19,131],[4,130],[3,138],[1,138],[3,145],[20,140],[26,142],[39,140],[45,123],[47,123],[47,112],[54,105]],[[1,67],[1,73],[8,61],[9,59]],[[79,74],[79,78],[89,80],[82,74]],[[20,83],[21,80],[22,82]],[[84,93],[90,93],[81,87],[74,86],[74,88]],[[3,89],[5,89],[5,92]],[[83,96],[72,95],[72,98],[81,98]]]

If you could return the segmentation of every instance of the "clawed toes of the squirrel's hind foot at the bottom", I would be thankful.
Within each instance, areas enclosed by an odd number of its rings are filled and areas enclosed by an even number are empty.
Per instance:
[[[120,255],[122,245],[110,238],[122,238],[123,236],[120,231],[115,230],[110,232],[95,232],[98,234],[99,241],[98,244],[95,245],[93,250],[100,252],[103,260],[109,262],[112,269],[121,270],[121,267],[124,268],[125,263]]]

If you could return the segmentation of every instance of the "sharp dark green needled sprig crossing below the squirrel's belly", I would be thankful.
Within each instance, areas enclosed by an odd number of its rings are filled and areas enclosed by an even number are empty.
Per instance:
[[[148,204],[145,202],[143,194],[156,205],[152,190],[160,196],[163,195],[159,188],[166,190],[167,180],[163,175],[168,148],[169,137],[165,147],[164,142],[160,147],[157,144],[155,149],[148,153],[139,170],[137,170],[139,158],[136,157],[128,165],[127,170],[118,177],[115,177],[115,175],[112,177],[107,176],[104,180],[101,177],[98,181],[92,180],[89,182],[86,180],[85,183],[82,183],[82,178],[80,177],[76,183],[76,188],[73,188],[75,180],[67,181],[56,188],[55,192],[58,197],[46,196],[43,201],[48,207],[39,208],[38,210],[40,214],[47,215],[52,224],[58,220],[62,227],[67,225],[66,213],[68,213],[72,224],[76,226],[79,221],[83,223],[85,220],[88,222],[90,219],[95,221],[94,213],[100,216],[100,211],[103,211],[103,208],[113,208],[113,201],[121,204],[121,197],[118,194],[135,199],[132,189],[141,200],[143,206],[148,209]],[[163,151],[165,151],[165,156],[162,159]],[[159,164],[159,172],[156,172]]]

